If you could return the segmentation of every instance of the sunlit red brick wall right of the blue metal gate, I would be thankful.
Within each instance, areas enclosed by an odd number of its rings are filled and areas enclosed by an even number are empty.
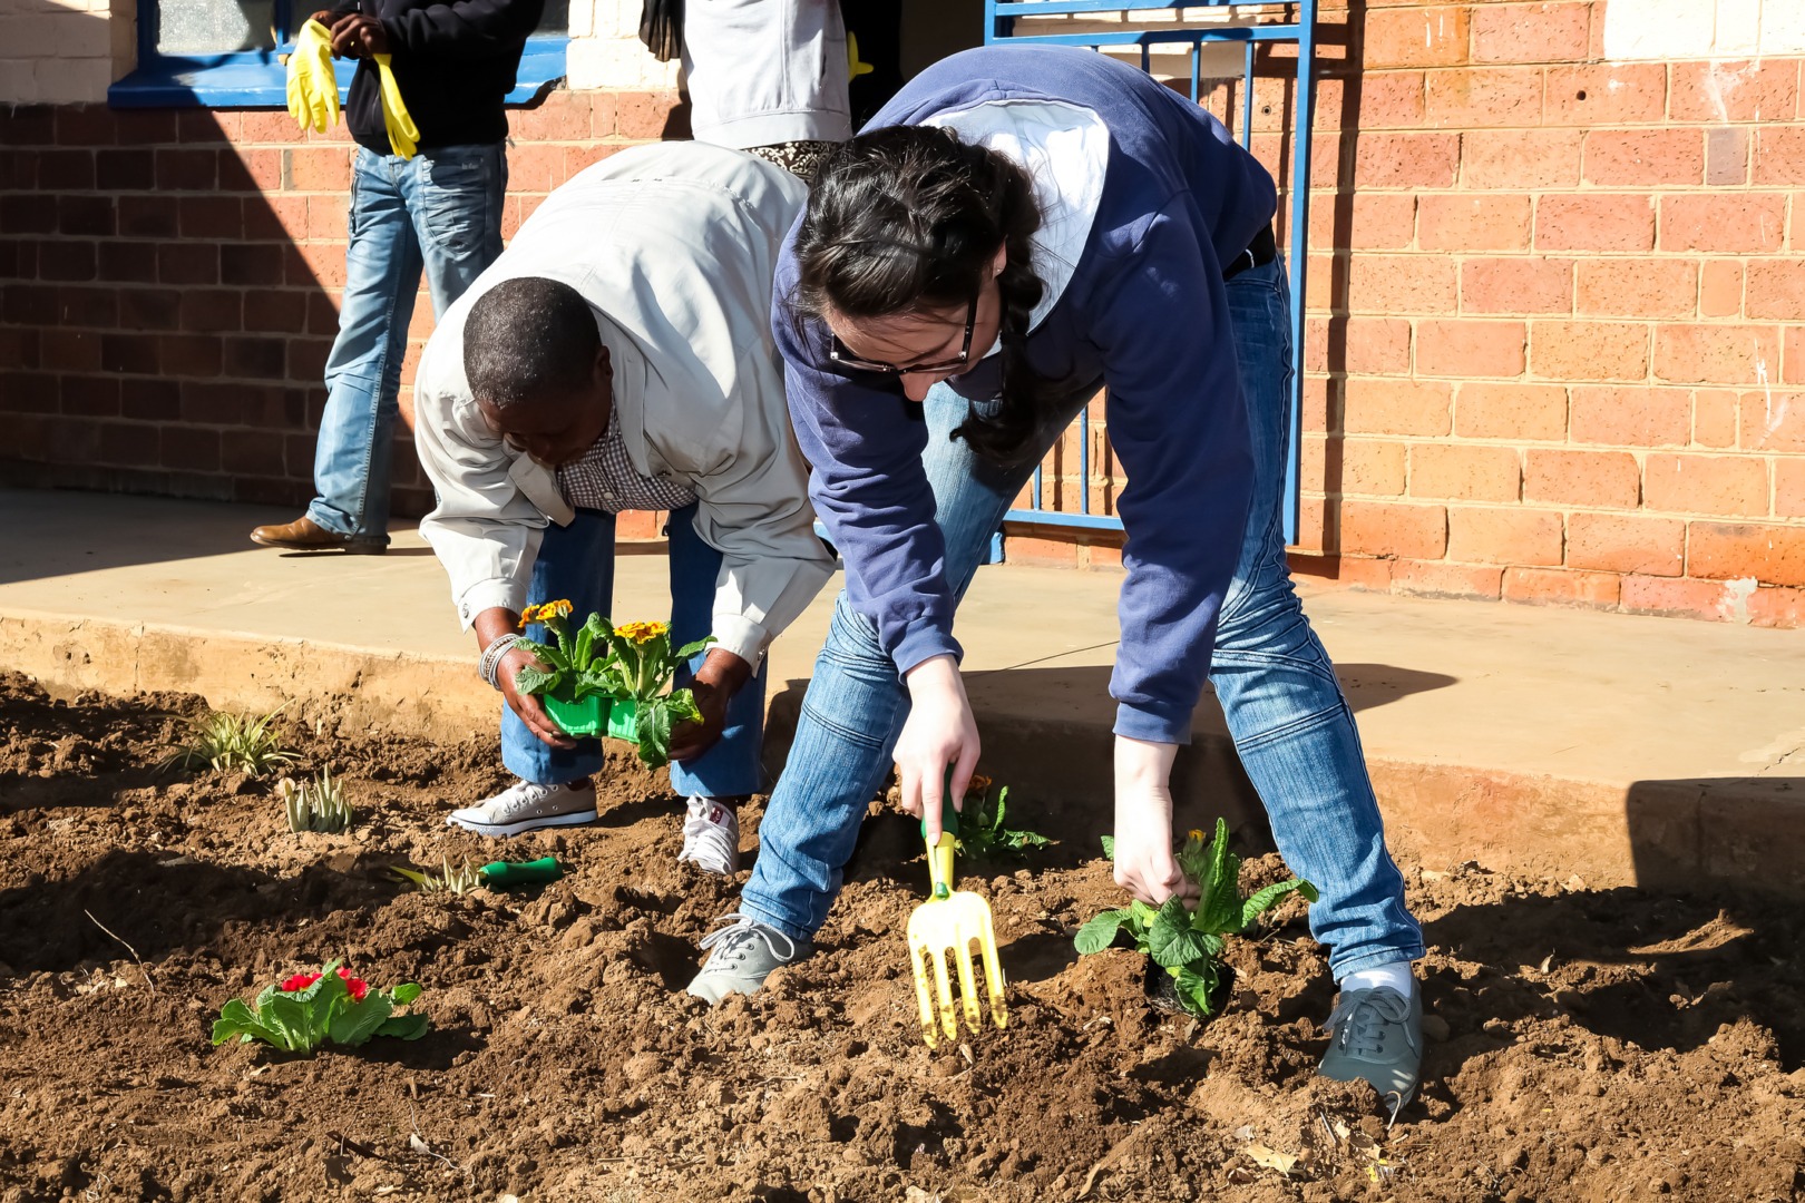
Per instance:
[[[1603,14],[1325,16],[1300,563],[1796,626],[1800,60],[1601,63]]]

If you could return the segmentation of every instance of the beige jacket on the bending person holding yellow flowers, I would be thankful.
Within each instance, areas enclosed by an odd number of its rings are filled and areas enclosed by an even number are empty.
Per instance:
[[[556,474],[489,431],[464,377],[469,307],[518,276],[588,299],[634,471],[697,494],[697,534],[724,556],[718,646],[756,664],[814,599],[832,559],[769,330],[778,247],[805,198],[791,173],[735,150],[625,150],[547,197],[439,321],[413,384],[413,440],[439,494],[421,534],[466,629],[491,606],[547,601],[527,597],[540,537],[574,518]]]

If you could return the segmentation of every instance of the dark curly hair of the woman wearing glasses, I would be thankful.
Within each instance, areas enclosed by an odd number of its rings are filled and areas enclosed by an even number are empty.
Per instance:
[[[1032,455],[1047,382],[1027,363],[1027,325],[1043,285],[1031,267],[1040,206],[1027,171],[935,126],[872,130],[828,152],[796,233],[798,321],[828,308],[890,317],[971,303],[1007,247],[1002,397],[973,404],[953,431],[996,464]]]

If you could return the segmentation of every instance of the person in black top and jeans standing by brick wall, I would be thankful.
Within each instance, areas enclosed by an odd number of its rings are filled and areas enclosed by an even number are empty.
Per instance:
[[[301,552],[388,550],[390,449],[413,299],[426,274],[440,316],[502,253],[507,115],[502,101],[543,0],[361,0],[316,13],[332,52],[356,58],[345,123],[357,141],[339,334],[307,514],[258,527],[255,543]],[[419,153],[383,121],[375,54],[390,56]]]

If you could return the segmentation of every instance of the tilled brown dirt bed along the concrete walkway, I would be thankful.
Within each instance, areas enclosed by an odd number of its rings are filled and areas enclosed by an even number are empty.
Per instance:
[[[1094,833],[967,860],[1011,1026],[930,1051],[902,936],[926,873],[897,815],[866,824],[819,954],[709,1010],[682,987],[744,873],[675,864],[662,776],[623,756],[592,828],[493,844],[444,824],[504,783],[493,739],[292,707],[296,768],[343,776],[357,822],[291,835],[267,783],[157,772],[199,709],[0,678],[7,1201],[1801,1196],[1789,905],[1406,864],[1428,1084],[1386,1127],[1370,1089],[1314,1077],[1332,983],[1301,900],[1231,945],[1227,1006],[1197,1023],[1146,1005],[1132,952],[1072,950],[1121,902]],[[744,826],[749,866],[756,806]],[[386,871],[547,853],[569,875],[511,893]],[[433,1032],[310,1061],[209,1044],[227,999],[334,956],[422,983]]]

